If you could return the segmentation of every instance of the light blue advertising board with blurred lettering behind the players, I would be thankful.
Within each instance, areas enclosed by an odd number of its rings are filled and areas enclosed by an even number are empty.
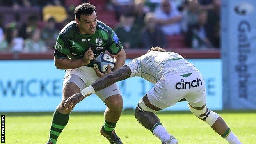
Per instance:
[[[126,63],[130,61],[126,60]],[[221,60],[189,61],[199,69],[206,82],[208,107],[221,110]],[[65,71],[55,68],[53,60],[3,60],[0,69],[0,112],[54,111],[62,100]],[[153,84],[135,77],[118,82],[118,86],[123,96],[123,108],[134,109]],[[105,108],[94,94],[78,103],[74,111],[103,111]],[[179,102],[166,110],[188,110],[187,102]]]

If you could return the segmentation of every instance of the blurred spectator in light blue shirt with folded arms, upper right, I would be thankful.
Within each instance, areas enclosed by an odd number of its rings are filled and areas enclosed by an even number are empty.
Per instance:
[[[181,14],[173,2],[162,0],[160,8],[155,10],[155,17],[165,35],[181,34]]]

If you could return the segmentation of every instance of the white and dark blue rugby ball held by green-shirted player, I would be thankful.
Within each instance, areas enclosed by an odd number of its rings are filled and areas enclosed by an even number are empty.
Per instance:
[[[110,64],[111,71],[114,68],[114,59],[110,55],[102,53],[94,59],[93,64],[101,73],[105,73],[107,71],[108,64]]]

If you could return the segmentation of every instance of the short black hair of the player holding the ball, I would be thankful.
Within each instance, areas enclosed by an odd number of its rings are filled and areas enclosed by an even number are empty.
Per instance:
[[[80,21],[81,14],[91,15],[93,12],[96,12],[96,8],[91,3],[83,3],[75,7],[75,18]]]

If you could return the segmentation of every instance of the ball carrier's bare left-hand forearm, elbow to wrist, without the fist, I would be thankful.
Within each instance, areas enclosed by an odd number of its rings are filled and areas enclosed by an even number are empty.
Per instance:
[[[83,59],[55,59],[57,69],[76,69],[84,65],[87,65],[87,63]]]

